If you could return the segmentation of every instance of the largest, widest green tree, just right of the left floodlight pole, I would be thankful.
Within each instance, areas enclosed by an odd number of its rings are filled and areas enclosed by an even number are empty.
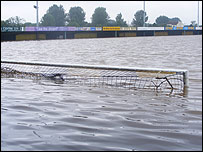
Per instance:
[[[62,5],[57,6],[56,4],[54,4],[53,6],[49,7],[49,9],[47,10],[47,13],[42,17],[41,25],[64,26],[66,22],[66,16],[67,14],[65,13],[63,6]],[[51,20],[51,21],[48,21],[48,20]]]

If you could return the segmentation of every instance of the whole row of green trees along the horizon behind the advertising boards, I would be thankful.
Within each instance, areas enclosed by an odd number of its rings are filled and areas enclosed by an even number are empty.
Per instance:
[[[145,21],[144,21],[145,14]],[[85,21],[85,11],[79,7],[71,7],[68,13],[62,5],[57,6],[54,4],[49,7],[46,14],[41,18],[39,26],[75,26],[75,27],[102,27],[102,26],[120,26],[120,27],[142,27],[145,26],[167,26],[174,22],[181,21],[178,17],[168,18],[167,16],[159,16],[153,24],[146,23],[148,21],[147,13],[143,10],[138,10],[134,14],[134,18],[130,25],[126,23],[122,14],[117,14],[115,19],[110,19],[106,8],[97,7],[91,17],[91,23]],[[36,26],[36,23],[26,22],[23,18],[18,16],[11,17],[5,21],[1,20],[1,26]],[[188,26],[195,26],[195,21],[192,21]]]

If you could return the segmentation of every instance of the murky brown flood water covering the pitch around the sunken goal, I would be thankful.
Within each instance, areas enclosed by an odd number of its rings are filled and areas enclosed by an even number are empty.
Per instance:
[[[1,42],[1,60],[187,69],[187,96],[1,78],[2,150],[202,150],[202,35]]]

